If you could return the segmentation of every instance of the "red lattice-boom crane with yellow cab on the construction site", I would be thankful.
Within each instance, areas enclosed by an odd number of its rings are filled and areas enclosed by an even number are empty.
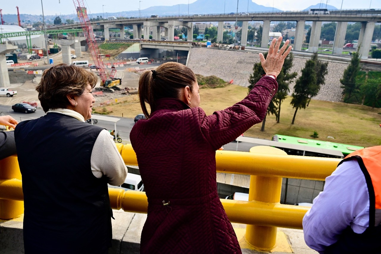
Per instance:
[[[73,0],[74,6],[77,10],[78,19],[82,25],[83,34],[85,35],[86,42],[93,58],[94,64],[96,64],[101,77],[101,87],[95,88],[96,90],[105,92],[114,92],[114,90],[121,90],[118,85],[122,84],[122,79],[114,78],[116,69],[111,67],[111,74],[107,78],[108,72],[106,66],[102,61],[102,55],[99,53],[98,44],[95,42],[95,35],[93,28],[90,24],[87,11],[83,0]]]

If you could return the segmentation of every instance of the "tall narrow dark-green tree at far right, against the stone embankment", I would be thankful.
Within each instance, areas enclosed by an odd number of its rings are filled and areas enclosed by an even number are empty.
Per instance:
[[[358,90],[356,76],[360,71],[359,49],[360,48],[357,49],[356,53],[352,54],[351,63],[348,65],[347,69],[344,70],[343,78],[340,79],[340,83],[342,84],[341,88],[344,88],[344,102],[348,102],[351,99],[352,94]]]

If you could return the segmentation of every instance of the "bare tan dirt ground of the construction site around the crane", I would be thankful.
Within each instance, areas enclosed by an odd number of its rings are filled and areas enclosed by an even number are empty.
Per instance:
[[[72,50],[72,53],[74,54],[74,50]],[[49,56],[53,59],[54,64],[62,63],[62,55],[61,52]],[[74,60],[88,60],[89,63],[93,64],[93,61],[91,59],[91,56],[87,52],[82,52],[82,57]],[[19,61],[22,63],[23,61]],[[24,61],[25,62],[25,61]],[[38,66],[41,67],[41,70],[44,70],[46,68],[49,68],[50,66],[47,64],[47,59],[39,59],[33,61],[33,63],[38,63]],[[151,69],[151,68],[149,68]],[[107,92],[101,92],[101,91],[95,91],[94,97],[95,97],[95,105],[94,107],[101,106],[102,103],[107,101],[114,101],[115,99],[130,96],[129,93],[125,93],[127,88],[128,90],[132,90],[138,87],[138,79],[140,73],[143,71],[143,69],[139,72],[131,72],[128,71],[128,67],[126,67],[124,70],[117,70],[117,74],[115,77],[122,78],[122,85],[120,88],[122,88],[121,91],[115,91],[114,93],[107,93]],[[38,107],[40,107],[40,102],[38,100],[38,93],[35,90],[35,87],[38,85],[38,83],[41,80],[41,75],[37,75],[33,80],[28,80],[25,83],[16,83],[16,84],[10,84],[7,86],[7,88],[10,88],[11,90],[17,90],[17,95],[14,95],[13,97],[0,97],[0,104],[4,105],[13,105],[15,103],[20,103],[22,101],[27,102],[37,102]],[[100,79],[98,80],[98,83],[96,87],[99,87]]]

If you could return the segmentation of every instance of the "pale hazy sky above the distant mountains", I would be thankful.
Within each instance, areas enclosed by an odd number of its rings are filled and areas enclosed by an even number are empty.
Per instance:
[[[236,0],[215,0],[215,2],[224,3],[224,1],[236,2]],[[246,2],[247,0],[239,0]],[[250,0],[249,0],[250,1]],[[77,1],[75,1],[77,2]],[[90,13],[106,13],[106,12],[118,12],[118,11],[137,11],[139,9],[139,3],[141,10],[144,10],[151,6],[173,6],[178,4],[191,4],[196,2],[195,0],[85,0]],[[280,10],[303,10],[308,6],[315,3],[322,3],[323,6],[327,3],[327,0],[254,0],[258,5],[264,5],[267,7],[274,7]],[[22,14],[42,14],[41,1],[31,0],[0,0],[0,8],[3,14],[17,14],[16,6],[19,6],[19,12]],[[44,14],[72,14],[75,7],[73,0],[42,0]],[[328,5],[335,6],[340,9],[343,3],[343,9],[381,9],[381,0],[328,0]],[[104,5],[104,6],[103,6]],[[103,10],[102,10],[103,8]],[[160,15],[160,13],[158,13]]]

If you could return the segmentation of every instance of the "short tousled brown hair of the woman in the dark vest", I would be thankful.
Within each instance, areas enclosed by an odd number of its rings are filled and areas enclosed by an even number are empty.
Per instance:
[[[87,84],[94,88],[97,81],[98,77],[85,68],[58,64],[43,72],[36,91],[46,113],[49,109],[67,108],[69,101],[66,95],[80,96]]]

